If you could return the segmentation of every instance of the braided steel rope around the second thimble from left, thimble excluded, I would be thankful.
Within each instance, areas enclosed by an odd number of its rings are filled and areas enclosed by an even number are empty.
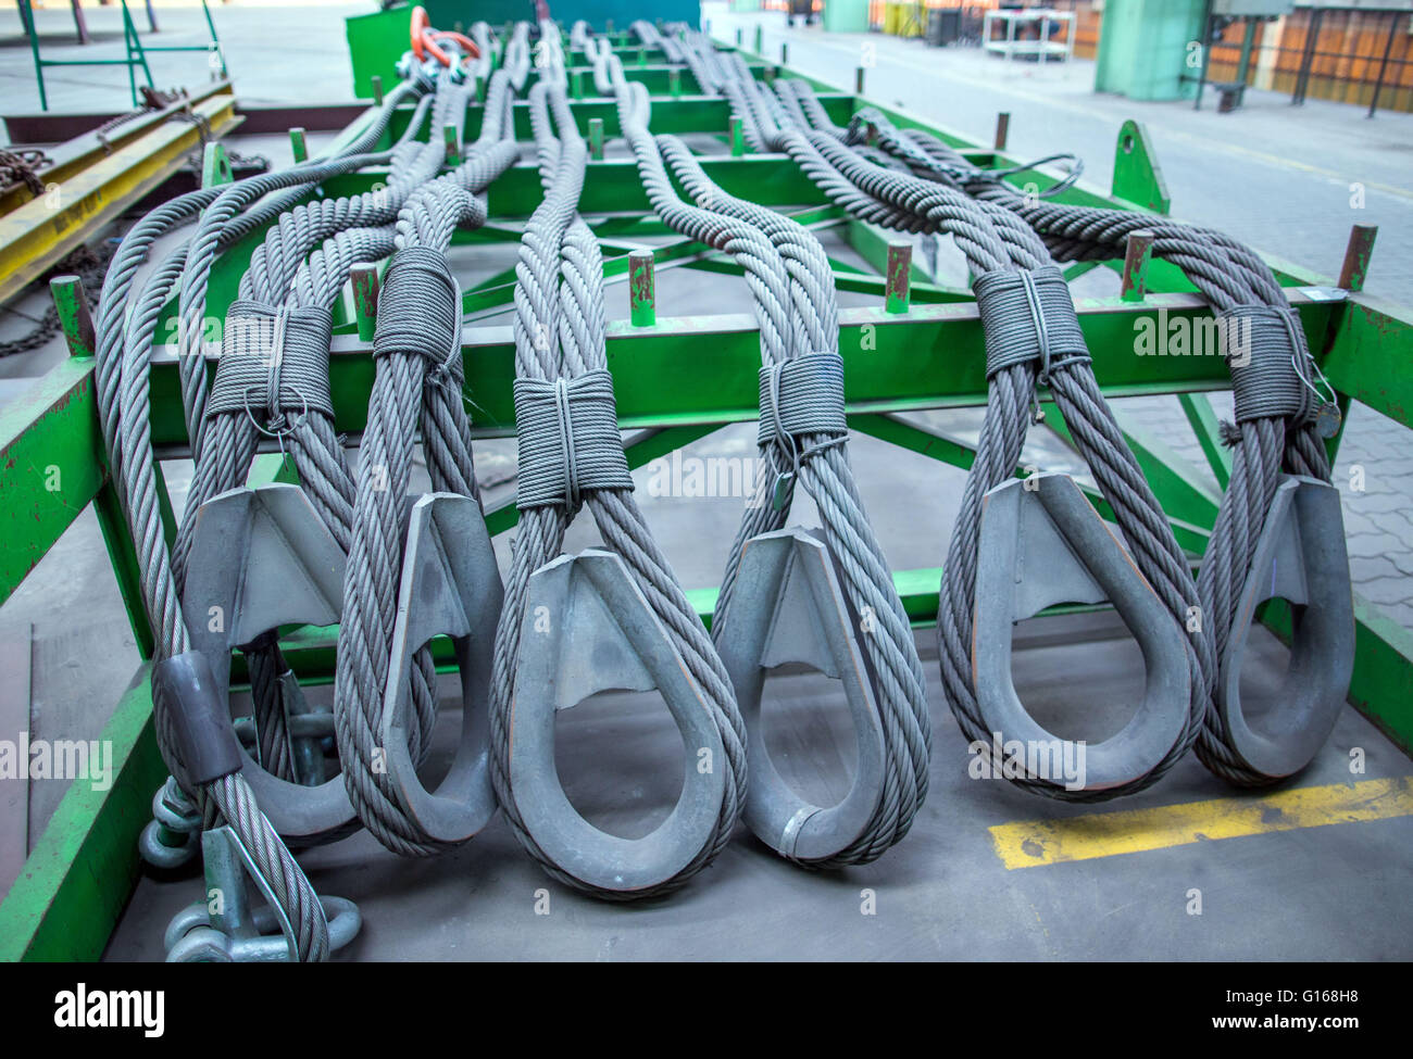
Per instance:
[[[513,76],[506,71],[492,76],[487,119],[492,112],[500,114],[493,100],[500,100],[510,83]],[[447,250],[458,227],[485,223],[480,193],[519,157],[513,140],[495,136],[509,126],[497,130],[495,119],[489,124],[461,165],[417,186],[397,213],[397,253],[379,299],[376,376],[359,448],[336,655],[335,731],[355,810],[383,846],[401,856],[431,856],[454,844],[428,834],[403,803],[382,764],[379,731],[383,710],[390,707],[386,689],[403,566],[404,496],[418,422],[432,489],[479,504],[461,390],[461,301]],[[434,674],[430,655],[424,651],[421,657],[427,658],[425,671],[414,676],[414,688],[418,681],[427,683],[424,723],[430,731]]]

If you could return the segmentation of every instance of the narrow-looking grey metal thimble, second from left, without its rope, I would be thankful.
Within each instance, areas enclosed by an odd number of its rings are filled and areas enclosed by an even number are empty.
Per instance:
[[[403,809],[438,842],[476,834],[496,815],[490,786],[487,693],[503,590],[496,554],[471,497],[431,493],[411,511],[379,736]],[[461,740],[442,782],[428,791],[407,750],[411,669],[435,635],[451,637],[461,671]]]

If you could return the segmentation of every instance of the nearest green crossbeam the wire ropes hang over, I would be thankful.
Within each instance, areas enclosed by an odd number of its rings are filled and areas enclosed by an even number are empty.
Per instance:
[[[1307,332],[1327,326],[1331,305],[1291,292]],[[1094,356],[1101,388],[1136,397],[1229,385],[1219,357],[1156,357],[1135,353],[1140,321],[1156,326],[1211,316],[1194,295],[1152,295],[1142,305],[1119,298],[1081,298],[1080,325]],[[841,309],[839,352],[851,412],[911,411],[979,405],[986,400],[985,336],[975,304],[914,305],[906,316],[873,308]],[[466,393],[479,409],[473,428],[507,435],[514,422],[510,383],[514,343],[509,326],[463,332]],[[755,419],[759,401],[760,337],[753,315],[664,318],[654,326],[608,325],[608,364],[625,428],[675,426]],[[372,349],[356,335],[338,335],[331,357],[335,425],[359,431],[373,380]],[[664,378],[674,385],[663,387]],[[175,349],[157,350],[153,364],[153,436],[158,445],[185,442],[177,391]]]

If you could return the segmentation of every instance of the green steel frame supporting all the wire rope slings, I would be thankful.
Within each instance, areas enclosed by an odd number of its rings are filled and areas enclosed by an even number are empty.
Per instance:
[[[352,37],[352,30],[350,30]],[[779,66],[747,56],[760,76],[774,76]],[[910,411],[978,405],[985,402],[983,345],[976,306],[966,289],[931,282],[909,264],[890,233],[861,225],[825,202],[798,168],[781,155],[745,155],[726,104],[694,95],[685,72],[670,76],[666,68],[643,65],[630,73],[650,79],[654,128],[716,136],[731,150],[702,158],[704,167],[728,192],[790,212],[818,230],[835,229],[869,263],[873,273],[839,264],[835,281],[841,291],[873,294],[875,305],[844,309],[839,347],[845,359],[849,424],[870,436],[900,445],[945,463],[966,467],[972,450],[965,445],[909,422]],[[900,126],[924,126],[911,114],[844,95],[814,82],[835,121],[844,123],[865,106],[883,110]],[[673,95],[678,88],[685,95]],[[593,93],[592,79],[579,82],[572,103],[582,131],[615,136],[617,116],[612,103]],[[373,112],[353,123],[343,137],[363,127]],[[479,127],[473,107],[468,134]],[[406,117],[400,119],[406,120]],[[526,131],[524,106],[516,110],[517,128]],[[602,124],[601,124],[602,123]],[[397,130],[394,123],[394,133]],[[1009,167],[1019,160],[1003,151],[968,144],[945,128],[931,127],[982,165]],[[300,137],[295,136],[298,144]],[[219,179],[220,148],[213,147],[208,179]],[[360,172],[328,181],[325,195],[346,195],[373,188],[384,178]],[[1022,179],[1022,178],[1016,178]],[[1026,181],[1047,186],[1057,176],[1031,172]],[[489,193],[490,223],[459,234],[463,243],[519,241],[523,222],[540,201],[540,182],[530,165],[520,165],[497,179]],[[1129,121],[1118,137],[1113,186],[1109,195],[1075,186],[1061,201],[1119,206],[1166,213],[1169,195],[1142,126]],[[617,393],[622,425],[633,429],[629,462],[640,466],[719,426],[756,417],[756,373],[760,352],[755,321],[749,315],[671,316],[670,305],[651,305],[653,265],[685,267],[739,274],[731,260],[685,239],[670,239],[650,251],[636,244],[640,236],[668,233],[647,212],[634,167],[627,161],[591,161],[582,210],[599,236],[605,271],[610,281],[632,278],[633,318],[613,321],[608,333],[608,359]],[[211,312],[223,313],[236,282],[263,233],[230,249],[216,264],[211,284]],[[1413,309],[1383,304],[1359,294],[1368,267],[1372,233],[1356,230],[1340,280],[1307,273],[1267,257],[1290,304],[1297,309],[1311,349],[1345,409],[1359,402],[1405,426],[1413,425]],[[890,267],[892,264],[892,267]],[[1072,265],[1070,275],[1094,267],[1123,270],[1123,263]],[[1142,267],[1142,274],[1133,274]],[[630,277],[632,271],[632,277]],[[1140,258],[1130,264],[1125,294],[1112,298],[1080,298],[1078,313],[1094,354],[1095,374],[1111,397],[1177,394],[1218,483],[1225,483],[1228,462],[1218,441],[1217,417],[1207,393],[1229,385],[1219,357],[1140,357],[1135,329],[1140,321],[1211,316],[1191,284],[1167,263]],[[504,309],[513,298],[513,273],[478,284],[463,295],[469,323],[462,352],[466,388],[475,395],[475,429],[480,436],[513,432],[512,376],[514,347],[509,326],[486,326],[478,316]],[[903,281],[909,281],[904,287]],[[348,319],[336,328],[332,356],[332,390],[338,428],[363,426],[373,377],[370,353],[373,299],[370,273],[355,277]],[[1344,292],[1337,292],[1335,288]],[[25,394],[0,409],[0,603],[40,562],[78,514],[93,504],[113,572],[137,635],[143,659],[109,722],[103,737],[112,738],[120,768],[105,794],[73,785],[34,849],[25,871],[0,905],[0,959],[97,957],[122,912],[137,875],[136,839],[150,816],[148,801],[164,775],[151,726],[151,693],[147,659],[153,637],[137,589],[137,559],[107,476],[99,433],[93,388],[92,325],[86,322],[82,291],[59,282],[55,295],[65,319],[72,356]],[[647,309],[653,309],[649,312]],[[171,306],[168,308],[171,312]],[[171,332],[158,326],[157,335]],[[863,342],[868,336],[869,342]],[[671,378],[671,385],[663,380]],[[175,353],[154,350],[153,438],[170,456],[185,450]],[[1065,425],[1047,402],[1047,422],[1061,438]],[[1150,438],[1137,424],[1122,424],[1154,491],[1183,545],[1201,555],[1219,496],[1207,479]],[[1332,448],[1338,438],[1332,439]],[[45,487],[47,469],[59,466],[62,491]],[[278,456],[261,457],[257,476],[287,476]],[[1102,500],[1092,497],[1104,513]],[[504,532],[516,520],[513,504],[489,514],[492,532]],[[171,518],[168,513],[168,528]],[[899,570],[894,580],[916,624],[930,624],[937,610],[940,569]],[[694,604],[709,616],[715,589],[691,593]],[[1405,751],[1413,748],[1413,633],[1383,617],[1364,600],[1355,602],[1358,658],[1349,700],[1368,714]],[[1269,607],[1263,620],[1277,634],[1287,614]],[[331,628],[292,631],[283,647],[301,678],[331,681],[333,644]],[[449,665],[449,652],[438,652]]]

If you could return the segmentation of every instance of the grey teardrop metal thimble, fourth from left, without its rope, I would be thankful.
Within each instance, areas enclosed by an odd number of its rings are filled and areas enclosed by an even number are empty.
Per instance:
[[[750,538],[740,554],[731,611],[718,650],[746,722],[746,823],[784,857],[825,860],[868,829],[883,796],[885,750],[872,679],[859,651],[856,616],[839,592],[834,559],[808,530],[790,528]],[[776,771],[766,750],[760,696],[766,671],[800,662],[842,685],[858,768],[849,792],[828,808],[803,799]]]

